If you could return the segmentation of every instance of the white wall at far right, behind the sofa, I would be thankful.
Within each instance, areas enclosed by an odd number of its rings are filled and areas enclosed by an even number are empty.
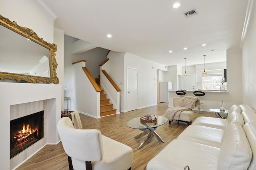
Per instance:
[[[252,1],[253,2],[253,1]],[[256,2],[242,45],[242,103],[256,109]]]

